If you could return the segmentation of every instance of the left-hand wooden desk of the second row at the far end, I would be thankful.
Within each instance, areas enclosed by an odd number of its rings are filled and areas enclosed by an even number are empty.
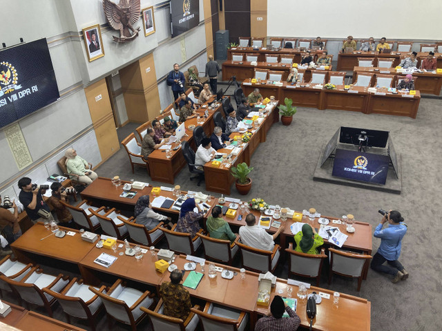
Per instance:
[[[333,66],[329,66],[329,68],[325,71],[332,71],[332,67]],[[251,62],[247,61],[242,61],[240,63],[240,61],[227,60],[222,63],[222,79],[224,81],[228,81],[230,77],[236,76],[238,81],[244,81],[244,79],[255,76],[255,69],[267,69],[282,72],[282,80],[287,81],[291,68],[292,67],[289,63],[258,62],[257,66],[253,66]],[[307,68],[304,74],[304,81],[310,81],[311,70],[320,69]]]

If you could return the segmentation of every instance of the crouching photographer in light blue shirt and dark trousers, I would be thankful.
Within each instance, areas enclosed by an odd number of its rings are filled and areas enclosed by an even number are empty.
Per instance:
[[[378,272],[385,272],[394,276],[393,283],[397,283],[401,279],[404,281],[408,278],[408,272],[403,268],[401,262],[398,261],[401,254],[402,239],[407,233],[407,224],[403,223],[403,217],[397,210],[379,210],[383,214],[381,223],[374,230],[374,237],[381,238],[381,245],[374,254],[371,268]],[[388,228],[383,229],[385,223],[388,222]],[[383,265],[383,263],[391,265]],[[393,267],[393,268],[392,268]]]

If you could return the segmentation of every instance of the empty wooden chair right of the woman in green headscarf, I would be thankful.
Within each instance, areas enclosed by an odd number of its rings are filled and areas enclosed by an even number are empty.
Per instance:
[[[357,278],[358,292],[361,290],[362,280],[365,270],[368,268],[368,262],[372,259],[371,255],[356,254],[329,248],[330,268],[329,268],[329,284],[332,282],[333,274],[341,276]]]

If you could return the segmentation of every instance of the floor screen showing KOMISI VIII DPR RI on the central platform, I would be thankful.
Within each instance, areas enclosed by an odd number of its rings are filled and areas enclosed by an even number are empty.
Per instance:
[[[390,157],[336,148],[332,176],[385,184]]]

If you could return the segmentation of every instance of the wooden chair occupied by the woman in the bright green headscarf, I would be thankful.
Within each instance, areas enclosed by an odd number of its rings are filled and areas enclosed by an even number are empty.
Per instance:
[[[324,259],[327,257],[324,248],[320,254],[306,254],[296,252],[293,249],[293,243],[289,243],[289,248],[286,248],[285,251],[289,254],[289,278],[292,274],[315,278],[316,286],[319,286],[320,272],[323,269]]]

